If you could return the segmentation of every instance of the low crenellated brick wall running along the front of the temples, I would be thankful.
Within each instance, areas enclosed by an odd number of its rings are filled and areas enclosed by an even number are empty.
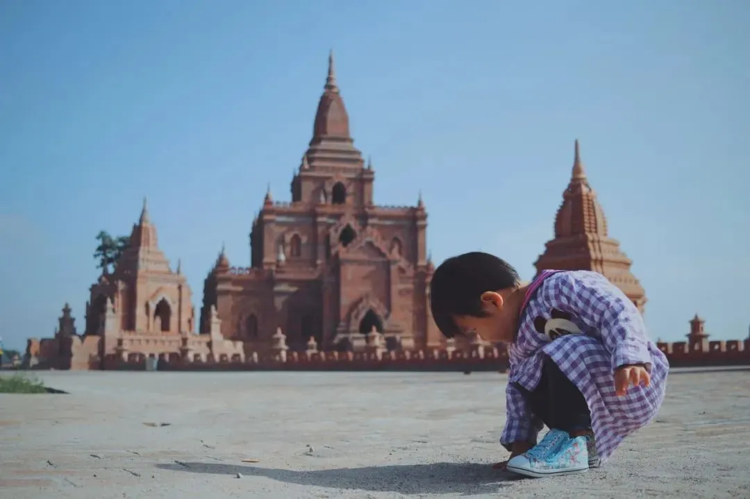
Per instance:
[[[158,338],[126,334],[118,339],[115,354],[99,358],[98,336],[68,339],[29,339],[24,366],[31,369],[143,370],[147,357],[160,360],[159,370],[288,370],[288,371],[499,371],[508,369],[508,351],[502,346],[451,343],[416,351],[386,351],[368,345],[367,351],[290,351],[286,337],[261,350],[250,343],[210,335]],[[148,345],[142,342],[148,342]],[[750,366],[750,339],[658,342],[672,367]],[[140,351],[133,351],[133,349]]]

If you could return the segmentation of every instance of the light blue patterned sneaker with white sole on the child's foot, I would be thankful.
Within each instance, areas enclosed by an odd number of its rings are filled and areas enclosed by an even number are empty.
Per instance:
[[[508,471],[534,478],[583,473],[589,469],[588,441],[550,429],[532,450],[508,461]]]

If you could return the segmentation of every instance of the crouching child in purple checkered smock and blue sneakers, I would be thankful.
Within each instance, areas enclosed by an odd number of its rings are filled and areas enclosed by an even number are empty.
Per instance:
[[[505,261],[469,252],[437,267],[430,292],[446,337],[510,344],[500,443],[511,456],[496,467],[527,477],[587,471],[664,400],[667,358],[637,308],[600,273],[544,270],[523,285]]]

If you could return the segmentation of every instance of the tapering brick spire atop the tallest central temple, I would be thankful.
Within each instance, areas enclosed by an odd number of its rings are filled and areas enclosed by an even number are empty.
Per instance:
[[[349,114],[338,87],[333,51],[329,54],[326,85],[323,85],[323,95],[318,102],[313,138],[305,157],[312,170],[319,166],[323,169],[365,167],[362,152],[354,147],[350,133]]]

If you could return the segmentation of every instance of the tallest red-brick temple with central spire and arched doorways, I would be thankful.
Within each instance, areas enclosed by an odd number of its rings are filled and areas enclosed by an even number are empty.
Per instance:
[[[375,171],[354,146],[333,55],[313,134],[291,182],[291,202],[266,193],[253,220],[251,267],[223,252],[205,279],[201,329],[211,307],[226,339],[256,351],[281,327],[292,349],[362,351],[371,332],[388,348],[439,345],[427,286],[427,212],[375,204]]]

